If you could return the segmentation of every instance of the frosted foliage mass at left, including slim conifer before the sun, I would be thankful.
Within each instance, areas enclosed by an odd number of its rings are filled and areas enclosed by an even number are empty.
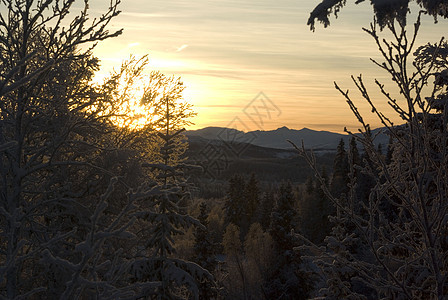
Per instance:
[[[75,2],[0,3],[0,298],[197,296],[196,279],[212,277],[172,257],[173,235],[198,224],[178,213],[184,150],[169,126],[188,122],[188,105],[131,126],[147,60],[94,83],[92,49],[121,33],[107,31],[120,1],[91,21],[89,1],[80,13]],[[160,116],[171,102],[148,95],[180,99],[183,86],[151,76],[139,104]]]

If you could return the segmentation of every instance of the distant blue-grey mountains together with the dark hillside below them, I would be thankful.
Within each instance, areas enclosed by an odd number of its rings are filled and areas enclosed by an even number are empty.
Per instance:
[[[373,130],[373,135],[379,130]],[[262,183],[260,186],[265,187],[285,181],[304,183],[309,176],[314,176],[287,140],[299,147],[303,140],[305,147],[316,154],[318,168],[325,168],[331,174],[339,141],[342,138],[346,147],[349,141],[349,135],[345,134],[287,127],[246,133],[231,128],[207,127],[187,131],[186,136],[188,161],[203,168],[192,178],[200,191],[197,196],[205,198],[223,197],[228,180],[234,174],[249,177],[255,173]],[[387,135],[380,134],[375,141],[383,143],[383,149],[386,149],[388,139]]]

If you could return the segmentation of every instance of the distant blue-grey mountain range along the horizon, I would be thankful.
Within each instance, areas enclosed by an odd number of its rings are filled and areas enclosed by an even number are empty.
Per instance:
[[[383,133],[381,128],[372,130],[375,137],[375,144],[387,145],[389,136]],[[186,132],[189,140],[205,139],[208,141],[221,141],[231,143],[252,144],[260,147],[275,149],[291,149],[291,141],[301,147],[302,141],[306,149],[320,151],[334,151],[340,140],[344,140],[347,145],[350,139],[348,134],[340,134],[330,131],[316,131],[308,128],[300,130],[280,127],[275,130],[256,130],[243,132],[237,129],[225,127],[206,127],[198,130]]]

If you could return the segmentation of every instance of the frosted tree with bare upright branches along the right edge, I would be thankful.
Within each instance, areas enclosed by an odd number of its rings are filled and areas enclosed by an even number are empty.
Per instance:
[[[373,184],[365,194],[361,212],[353,205],[353,191],[348,201],[334,198],[327,191],[340,214],[335,218],[333,234],[326,239],[328,250],[314,261],[326,279],[319,295],[329,299],[444,299],[447,294],[448,47],[442,39],[415,51],[422,15],[417,17],[414,31],[408,30],[404,22],[408,2],[389,5],[387,1],[372,1],[378,4],[376,9],[383,5],[384,10],[378,9],[376,14],[381,14],[381,19],[365,29],[382,55],[383,61],[374,63],[392,77],[399,93],[376,83],[404,124],[394,124],[390,116],[378,110],[362,76],[352,77],[393,137],[390,162],[378,153],[370,125],[351,94],[336,85],[362,127],[358,138],[364,146],[362,173]],[[434,16],[447,16],[446,1],[418,3]],[[405,9],[397,10],[401,5]],[[324,12],[322,7],[319,10]],[[381,37],[384,28],[391,33],[392,41]],[[301,153],[313,165],[304,149]],[[394,217],[388,215],[392,210],[396,211]],[[312,248],[319,251],[318,247]]]

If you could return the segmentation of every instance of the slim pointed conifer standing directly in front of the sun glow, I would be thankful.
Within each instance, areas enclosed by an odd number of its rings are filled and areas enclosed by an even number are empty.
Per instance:
[[[189,261],[175,258],[176,252],[173,237],[184,234],[184,230],[192,225],[203,226],[189,215],[182,214],[180,203],[188,197],[188,185],[184,179],[184,172],[188,165],[181,162],[177,156],[176,147],[179,135],[184,131],[180,126],[185,124],[179,116],[183,116],[179,109],[180,99],[178,89],[180,82],[175,83],[174,90],[162,95],[145,95],[145,105],[155,107],[158,124],[161,129],[158,136],[163,141],[160,163],[147,163],[157,172],[153,189],[157,194],[150,197],[152,209],[139,213],[138,216],[149,222],[147,240],[144,241],[143,258],[133,263],[133,276],[137,281],[158,282],[155,291],[147,296],[155,299],[181,299],[199,297],[201,282],[213,282],[211,274]],[[150,92],[150,90],[148,90]],[[173,97],[172,97],[173,96]],[[184,289],[186,289],[186,295]]]

